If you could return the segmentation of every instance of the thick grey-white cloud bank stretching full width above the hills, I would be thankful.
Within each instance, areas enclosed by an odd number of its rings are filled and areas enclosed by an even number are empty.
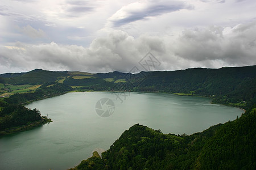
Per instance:
[[[90,46],[49,44],[29,45],[16,42],[2,47],[0,73],[35,68],[88,71],[91,73],[129,72],[151,52],[161,63],[152,70],[178,70],[188,67],[256,65],[256,22],[234,27],[185,29],[177,38],[112,31],[94,39]],[[229,31],[226,31],[229,29]]]

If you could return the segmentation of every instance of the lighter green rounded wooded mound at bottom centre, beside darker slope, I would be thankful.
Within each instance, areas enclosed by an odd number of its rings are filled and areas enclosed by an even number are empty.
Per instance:
[[[108,151],[102,153],[102,159],[109,169],[181,168],[184,161],[188,161],[183,156],[188,153],[189,142],[189,137],[163,134],[137,124],[126,130]],[[195,158],[189,158],[192,162],[196,159],[196,155],[193,156]]]

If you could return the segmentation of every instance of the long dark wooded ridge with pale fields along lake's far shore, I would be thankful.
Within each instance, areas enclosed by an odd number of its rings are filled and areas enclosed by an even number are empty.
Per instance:
[[[3,84],[63,83],[77,90],[159,91],[213,98],[214,103],[246,108],[256,101],[256,66],[194,68],[177,71],[151,71],[138,74],[84,73],[35,69],[27,73],[0,75]]]

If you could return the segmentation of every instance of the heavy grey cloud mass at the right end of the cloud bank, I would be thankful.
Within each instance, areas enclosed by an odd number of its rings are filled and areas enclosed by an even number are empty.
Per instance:
[[[221,60],[226,65],[255,65],[256,22],[228,29],[187,29],[177,40],[174,53],[196,62]]]

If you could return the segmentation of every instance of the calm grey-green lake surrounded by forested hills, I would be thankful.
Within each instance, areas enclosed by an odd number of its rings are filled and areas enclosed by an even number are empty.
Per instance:
[[[243,113],[210,101],[136,92],[75,92],[35,101],[26,107],[38,108],[53,122],[1,137],[0,169],[68,169],[95,150],[108,150],[134,124],[166,134],[193,134]]]

